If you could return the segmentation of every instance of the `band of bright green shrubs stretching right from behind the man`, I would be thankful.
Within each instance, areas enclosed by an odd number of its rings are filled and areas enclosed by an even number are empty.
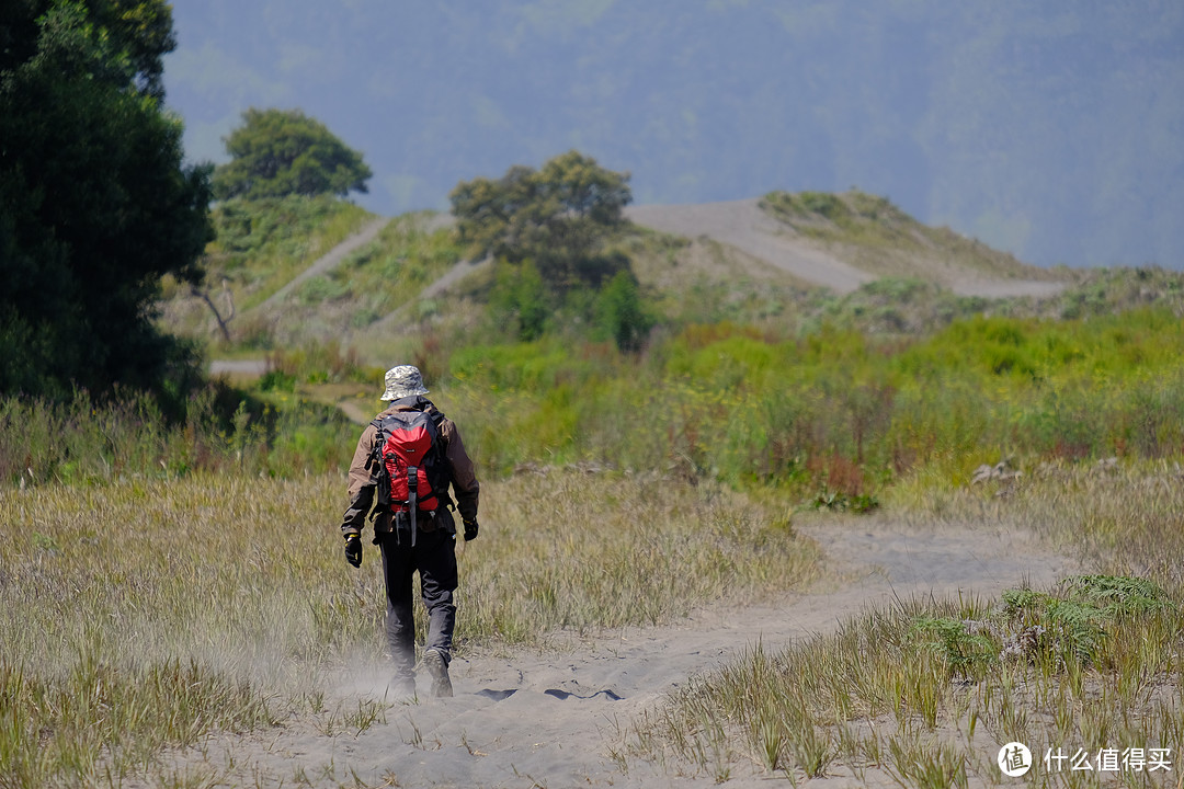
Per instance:
[[[513,463],[664,463],[857,502],[933,464],[955,478],[983,458],[1179,453],[1180,353],[1184,330],[1153,312],[974,317],[912,343],[826,325],[777,339],[695,324],[638,358],[558,337],[459,350],[450,394],[471,390],[480,420],[521,431],[497,451],[502,467],[515,447]],[[623,414],[643,427],[629,435]],[[556,444],[532,435],[532,419],[562,425],[536,432]]]

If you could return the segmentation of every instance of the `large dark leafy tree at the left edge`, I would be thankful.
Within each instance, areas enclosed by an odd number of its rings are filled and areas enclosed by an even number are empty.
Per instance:
[[[162,0],[0,4],[0,392],[194,375],[152,324],[211,238],[208,168],[161,104],[173,46]]]

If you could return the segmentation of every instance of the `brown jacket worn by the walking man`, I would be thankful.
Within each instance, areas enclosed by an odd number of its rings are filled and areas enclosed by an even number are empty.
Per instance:
[[[426,410],[427,413],[439,413],[430,400],[422,396],[404,397],[395,400],[391,407],[379,414],[375,419],[381,419],[397,410]],[[349,464],[349,509],[341,524],[341,532],[345,535],[360,535],[366,525],[366,515],[374,504],[374,486],[378,481],[378,468],[374,467],[374,440],[378,438],[378,428],[371,422],[362,431],[358,439],[358,448],[354,450],[354,459]],[[472,467],[472,460],[464,451],[464,441],[461,440],[461,432],[446,416],[440,420],[440,438],[444,441],[444,457],[448,459],[449,471],[452,479],[452,492],[456,496],[456,509],[464,519],[477,517],[477,499],[481,493],[481,485],[477,483],[477,474]],[[391,516],[388,512],[380,512],[374,519],[375,533],[391,530]]]

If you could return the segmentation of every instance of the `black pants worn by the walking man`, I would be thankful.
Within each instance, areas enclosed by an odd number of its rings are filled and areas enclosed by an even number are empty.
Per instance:
[[[412,575],[419,571],[419,590],[427,607],[425,649],[438,649],[445,665],[452,659],[452,628],[456,625],[456,536],[448,529],[420,531],[416,547],[411,533],[381,535],[382,573],[386,576],[386,640],[395,671],[411,677],[416,666],[416,620]]]

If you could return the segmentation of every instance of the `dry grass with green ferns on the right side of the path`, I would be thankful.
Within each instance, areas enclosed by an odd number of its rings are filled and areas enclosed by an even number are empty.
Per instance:
[[[926,493],[927,491],[927,493]],[[1043,467],[987,487],[913,496],[908,517],[1044,535],[1101,573],[1002,600],[905,601],[778,653],[759,646],[635,723],[626,746],[674,771],[905,787],[1006,781],[1027,743],[1035,785],[1163,785],[1184,738],[1184,490],[1175,466]],[[896,502],[900,506],[900,500]],[[1138,577],[1132,577],[1138,576]],[[1166,589],[1167,591],[1164,591]],[[1143,749],[1143,770],[1073,771],[1079,749]],[[1061,749],[1060,751],[1057,749]],[[1139,754],[1140,751],[1135,751]]]

